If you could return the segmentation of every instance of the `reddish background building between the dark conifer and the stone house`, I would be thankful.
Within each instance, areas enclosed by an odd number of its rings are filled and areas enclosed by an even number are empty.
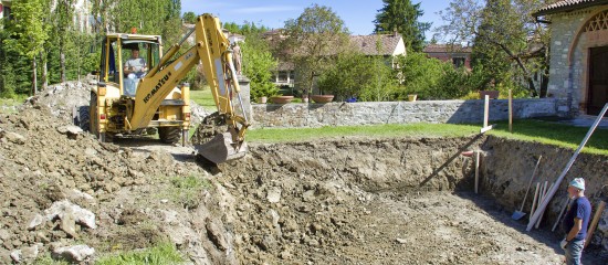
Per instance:
[[[460,44],[429,44],[422,51],[429,57],[451,62],[455,67],[471,70],[471,46]]]

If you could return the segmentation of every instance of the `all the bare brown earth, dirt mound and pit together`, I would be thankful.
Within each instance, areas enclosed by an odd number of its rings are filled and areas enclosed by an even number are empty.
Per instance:
[[[531,233],[526,220],[510,218],[534,156],[551,161],[548,178],[569,158],[559,148],[492,137],[250,142],[245,158],[218,173],[188,147],[60,132],[71,107],[57,113],[63,103],[52,95],[0,115],[0,264],[34,246],[40,257],[86,244],[93,263],[165,241],[195,264],[560,263],[559,235],[547,229],[555,210]],[[481,194],[470,192],[472,160],[460,156],[472,149],[485,153]],[[601,182],[606,168],[605,157],[585,155],[573,174]],[[202,187],[180,184],[188,178]],[[62,200],[95,213],[96,227],[76,223],[71,233],[53,219],[29,229]]]

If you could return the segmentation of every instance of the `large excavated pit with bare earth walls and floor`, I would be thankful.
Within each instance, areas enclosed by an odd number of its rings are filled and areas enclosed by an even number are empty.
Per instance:
[[[483,153],[480,194],[465,150]],[[535,182],[551,182],[569,150],[480,136],[343,138],[252,145],[250,152],[219,177],[232,195],[226,222],[242,264],[562,263],[558,233],[548,231],[565,184],[541,231],[525,232],[527,216],[511,213],[538,155],[546,160]],[[605,157],[581,155],[568,176],[601,182],[607,166]]]

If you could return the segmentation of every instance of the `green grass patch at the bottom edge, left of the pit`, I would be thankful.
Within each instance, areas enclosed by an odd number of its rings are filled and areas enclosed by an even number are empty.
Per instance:
[[[161,243],[143,251],[129,251],[118,255],[106,256],[95,261],[98,265],[136,265],[136,264],[177,264],[184,257],[171,243]]]

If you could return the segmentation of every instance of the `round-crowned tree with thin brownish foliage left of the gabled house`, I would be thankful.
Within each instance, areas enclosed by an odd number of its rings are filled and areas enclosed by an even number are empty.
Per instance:
[[[348,43],[348,29],[328,7],[313,4],[297,19],[285,22],[285,40],[281,55],[296,65],[296,84],[306,95],[312,92],[314,78],[333,64]]]

